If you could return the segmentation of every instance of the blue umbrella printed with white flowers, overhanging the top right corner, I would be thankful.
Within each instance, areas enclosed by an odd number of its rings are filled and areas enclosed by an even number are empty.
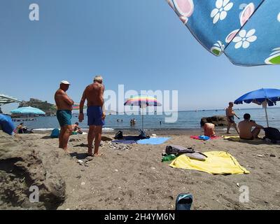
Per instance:
[[[280,64],[279,0],[166,0],[204,48],[233,64]]]

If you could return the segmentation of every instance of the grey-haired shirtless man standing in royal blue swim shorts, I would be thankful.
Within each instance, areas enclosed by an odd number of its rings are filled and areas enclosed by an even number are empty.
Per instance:
[[[102,82],[102,76],[95,76],[93,83],[85,87],[82,99],[80,99],[80,114],[78,117],[80,122],[84,120],[83,106],[85,99],[87,100],[87,125],[90,126],[87,134],[87,154],[90,156],[99,156],[98,149],[102,138],[102,126],[105,124],[104,85]],[[92,142],[94,138],[94,153],[92,154]]]

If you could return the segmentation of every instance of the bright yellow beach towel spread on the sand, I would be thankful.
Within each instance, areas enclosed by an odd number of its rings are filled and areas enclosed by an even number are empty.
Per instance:
[[[244,167],[239,165],[239,162],[223,151],[212,151],[204,153],[207,155],[205,161],[192,160],[185,154],[180,155],[169,165],[174,168],[195,169],[209,174],[249,174]]]

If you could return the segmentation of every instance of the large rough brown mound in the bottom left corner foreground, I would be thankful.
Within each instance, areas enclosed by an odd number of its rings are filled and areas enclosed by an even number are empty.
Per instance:
[[[57,209],[66,197],[66,184],[52,168],[58,154],[0,132],[0,209]],[[38,187],[38,203],[29,200],[31,186]]]

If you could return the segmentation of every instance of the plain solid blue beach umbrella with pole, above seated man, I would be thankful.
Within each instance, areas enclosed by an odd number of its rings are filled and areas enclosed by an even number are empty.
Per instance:
[[[267,104],[268,106],[276,105],[276,102],[280,100],[280,90],[278,89],[260,89],[255,90],[252,92],[247,92],[243,96],[239,97],[235,100],[235,104],[250,104],[251,102],[262,105],[265,109],[265,118],[267,120],[267,127],[268,125],[268,118],[267,118]]]

